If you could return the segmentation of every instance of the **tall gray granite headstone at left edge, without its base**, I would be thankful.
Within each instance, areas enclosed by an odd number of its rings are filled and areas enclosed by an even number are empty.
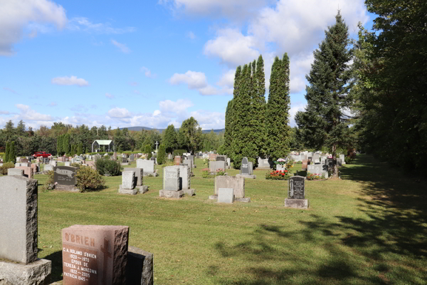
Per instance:
[[[37,180],[0,177],[0,259],[37,259]]]

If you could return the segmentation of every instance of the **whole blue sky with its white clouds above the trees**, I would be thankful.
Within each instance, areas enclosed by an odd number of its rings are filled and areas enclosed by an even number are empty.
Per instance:
[[[266,83],[290,56],[291,125],[312,51],[342,11],[371,27],[362,0],[0,0],[0,128],[181,125],[223,128],[236,66],[260,54]],[[268,96],[268,91],[265,94]]]

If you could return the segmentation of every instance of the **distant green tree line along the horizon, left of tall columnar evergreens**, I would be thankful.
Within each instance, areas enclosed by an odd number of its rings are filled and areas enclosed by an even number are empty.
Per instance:
[[[6,146],[14,142],[14,156],[29,156],[34,152],[46,151],[52,155],[80,155],[92,151],[94,140],[113,140],[117,152],[145,152],[147,145],[150,150],[156,149],[156,142],[164,144],[167,152],[182,149],[187,151],[216,150],[223,144],[223,133],[202,133],[199,123],[194,118],[184,120],[181,128],[169,125],[167,130],[132,131],[127,128],[120,130],[88,125],[66,125],[53,123],[51,128],[42,125],[37,130],[26,128],[23,120],[14,125],[12,120],[0,129],[0,152],[6,157]],[[101,149],[102,151],[103,149]],[[151,153],[151,151],[150,151]]]

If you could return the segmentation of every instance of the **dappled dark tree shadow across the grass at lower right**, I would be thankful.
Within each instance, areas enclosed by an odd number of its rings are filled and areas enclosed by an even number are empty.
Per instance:
[[[357,214],[260,224],[238,244],[218,242],[222,257],[251,261],[244,278],[218,284],[425,284],[426,186],[371,157],[357,163],[341,170],[362,186]]]

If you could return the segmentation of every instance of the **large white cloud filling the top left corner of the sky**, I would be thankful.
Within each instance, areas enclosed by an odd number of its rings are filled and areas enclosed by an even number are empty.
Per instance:
[[[67,22],[65,9],[48,0],[1,1],[0,9],[0,56],[15,53],[14,44],[22,37],[23,28],[32,23],[43,29],[53,24],[62,29]],[[33,33],[32,33],[33,34]]]

